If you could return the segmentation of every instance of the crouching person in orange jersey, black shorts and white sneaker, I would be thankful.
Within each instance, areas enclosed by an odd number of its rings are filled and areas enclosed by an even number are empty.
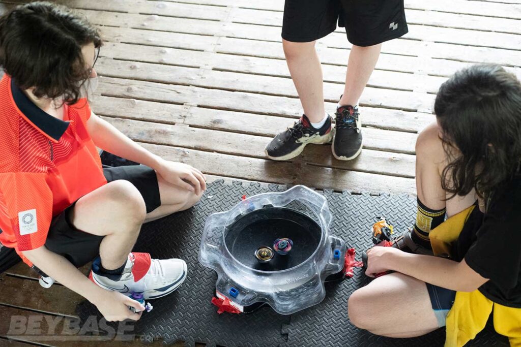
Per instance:
[[[108,320],[139,319],[130,292],[162,297],[187,276],[182,260],[131,252],[141,225],[190,208],[205,177],[91,111],[101,45],[63,6],[35,2],[0,18],[0,241],[45,274],[42,285],[59,281]],[[96,146],[143,165],[102,169]],[[90,261],[87,278],[77,267]]]

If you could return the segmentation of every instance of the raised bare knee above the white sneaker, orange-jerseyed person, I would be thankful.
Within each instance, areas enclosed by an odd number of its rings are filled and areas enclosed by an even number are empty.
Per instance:
[[[143,223],[146,206],[138,188],[128,181],[119,179],[108,183],[106,189],[107,199],[113,206],[113,212],[121,214],[122,220],[128,223]]]

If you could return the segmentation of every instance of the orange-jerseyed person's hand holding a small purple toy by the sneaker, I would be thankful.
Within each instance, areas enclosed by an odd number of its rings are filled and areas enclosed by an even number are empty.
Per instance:
[[[103,290],[94,304],[107,322],[119,322],[125,319],[139,320],[145,311],[145,306],[117,291]],[[129,306],[141,312],[134,313],[130,311]]]

